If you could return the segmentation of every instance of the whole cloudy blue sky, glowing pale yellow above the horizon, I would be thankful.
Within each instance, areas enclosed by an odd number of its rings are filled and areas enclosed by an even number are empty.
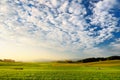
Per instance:
[[[0,59],[120,55],[120,0],[0,0]]]

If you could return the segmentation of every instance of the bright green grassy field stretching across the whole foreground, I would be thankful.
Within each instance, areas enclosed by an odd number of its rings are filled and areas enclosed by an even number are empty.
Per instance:
[[[120,60],[92,63],[0,62],[0,80],[120,80]]]

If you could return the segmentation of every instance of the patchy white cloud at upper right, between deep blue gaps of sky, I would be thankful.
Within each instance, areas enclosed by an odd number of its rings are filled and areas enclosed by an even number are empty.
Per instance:
[[[112,32],[116,31],[116,25],[118,19],[110,14],[109,11],[116,4],[116,0],[103,0],[98,3],[94,3],[93,15],[91,18],[91,24],[99,26],[100,30],[95,33],[99,36],[95,37],[95,42],[100,43],[112,38]]]

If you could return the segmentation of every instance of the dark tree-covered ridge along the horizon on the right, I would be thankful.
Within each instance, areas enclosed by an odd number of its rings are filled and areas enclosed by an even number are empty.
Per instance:
[[[87,63],[87,62],[98,62],[98,61],[106,61],[106,60],[120,60],[120,56],[110,56],[110,57],[92,57],[92,58],[85,58],[77,61],[72,60],[64,60],[64,61],[57,61],[58,63]]]

